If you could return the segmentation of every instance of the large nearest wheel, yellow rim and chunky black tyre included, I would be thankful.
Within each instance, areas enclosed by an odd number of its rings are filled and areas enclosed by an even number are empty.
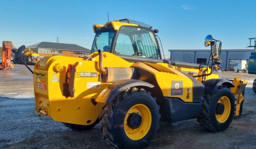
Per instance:
[[[115,148],[145,148],[159,128],[156,98],[144,89],[127,89],[101,114],[103,138]]]

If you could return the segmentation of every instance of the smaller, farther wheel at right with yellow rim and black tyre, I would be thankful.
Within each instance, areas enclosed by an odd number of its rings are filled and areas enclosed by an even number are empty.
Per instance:
[[[200,126],[213,131],[224,131],[232,122],[235,110],[233,93],[226,87],[215,94],[206,93],[198,121]]]

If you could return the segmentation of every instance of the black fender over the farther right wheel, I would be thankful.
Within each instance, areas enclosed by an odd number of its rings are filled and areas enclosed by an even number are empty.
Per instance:
[[[235,87],[234,84],[227,79],[209,79],[203,82],[206,93],[216,93],[220,85],[225,85],[228,88]]]

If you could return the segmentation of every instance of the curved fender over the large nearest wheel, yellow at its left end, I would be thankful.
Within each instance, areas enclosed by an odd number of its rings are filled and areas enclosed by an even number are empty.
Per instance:
[[[106,87],[98,95],[95,101],[101,102],[101,103],[110,103],[115,98],[115,96],[117,96],[119,93],[121,93],[122,91],[130,87],[135,87],[135,86],[144,86],[149,88],[155,87],[154,85],[141,80],[135,80],[135,79],[120,80]]]

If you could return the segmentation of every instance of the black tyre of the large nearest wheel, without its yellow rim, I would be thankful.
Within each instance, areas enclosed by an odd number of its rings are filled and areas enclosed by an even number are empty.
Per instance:
[[[132,140],[124,131],[124,120],[128,110],[136,104],[144,104],[149,108],[152,122],[148,133],[144,137]],[[131,88],[123,91],[105,107],[100,116],[102,121],[100,129],[103,130],[103,138],[114,148],[138,149],[149,146],[159,129],[161,118],[159,108],[156,98],[153,98],[151,93],[144,89]]]

